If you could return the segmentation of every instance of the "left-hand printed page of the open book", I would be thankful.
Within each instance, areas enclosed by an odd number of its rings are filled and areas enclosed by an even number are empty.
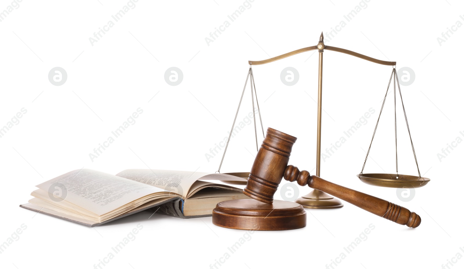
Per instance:
[[[90,169],[71,171],[36,187],[48,192],[51,199],[65,199],[98,216],[146,195],[165,192],[155,186]]]

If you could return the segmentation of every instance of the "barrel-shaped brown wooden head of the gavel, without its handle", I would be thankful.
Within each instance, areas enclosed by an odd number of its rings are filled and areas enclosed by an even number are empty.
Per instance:
[[[266,204],[272,204],[274,193],[284,176],[296,137],[268,128],[266,137],[251,167],[243,193]]]

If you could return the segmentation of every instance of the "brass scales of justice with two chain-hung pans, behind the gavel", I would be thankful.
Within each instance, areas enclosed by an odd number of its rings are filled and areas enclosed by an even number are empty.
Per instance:
[[[283,58],[290,57],[290,56],[298,54],[298,53],[302,53],[302,52],[305,52],[305,51],[314,51],[314,50],[318,50],[318,52],[319,52],[319,75],[318,75],[318,98],[317,98],[316,176],[319,177],[320,173],[321,173],[322,55],[323,55],[324,50],[328,50],[328,51],[342,52],[342,53],[352,55],[352,56],[355,56],[355,57],[358,57],[358,58],[361,58],[361,59],[364,59],[364,60],[367,60],[367,61],[370,61],[370,62],[374,62],[376,64],[383,64],[383,65],[391,65],[391,66],[393,66],[393,70],[392,70],[392,73],[390,75],[390,80],[389,80],[388,86],[387,86],[387,92],[385,93],[385,96],[384,96],[384,99],[383,99],[383,102],[382,102],[382,106],[381,106],[381,109],[380,109],[379,117],[377,119],[377,123],[376,123],[375,128],[374,128],[374,134],[372,135],[372,139],[371,139],[369,148],[367,150],[366,158],[364,160],[364,164],[363,164],[362,169],[361,169],[361,173],[359,173],[357,175],[357,177],[362,182],[364,182],[366,184],[369,184],[369,185],[373,185],[373,186],[392,187],[392,188],[403,188],[403,187],[405,187],[405,188],[418,188],[418,187],[421,187],[421,186],[425,186],[430,181],[430,179],[422,177],[421,174],[420,174],[420,171],[419,171],[419,165],[418,165],[418,162],[417,162],[417,157],[416,157],[416,153],[415,153],[415,150],[414,150],[414,145],[412,144],[411,132],[410,132],[409,124],[408,124],[407,117],[406,117],[406,110],[404,108],[403,98],[401,96],[400,83],[399,83],[398,75],[396,73],[396,62],[382,61],[382,60],[379,60],[379,59],[368,57],[366,55],[362,55],[362,54],[354,52],[354,51],[349,51],[349,50],[342,49],[342,48],[337,48],[337,47],[333,47],[333,46],[324,45],[324,36],[323,36],[322,33],[321,33],[321,36],[319,38],[319,43],[317,45],[315,45],[315,46],[309,46],[309,47],[302,48],[302,49],[299,49],[299,50],[296,50],[296,51],[290,51],[288,53],[279,55],[277,57],[262,60],[262,61],[248,61],[248,64],[250,64],[250,69],[248,70],[248,75],[246,77],[245,86],[244,86],[244,89],[242,91],[242,95],[240,97],[240,102],[238,103],[238,109],[237,109],[237,112],[235,114],[235,118],[234,118],[234,121],[232,123],[231,132],[229,134],[229,138],[227,140],[226,147],[224,149],[224,154],[222,156],[221,162],[219,164],[219,169],[218,169],[217,172],[220,173],[220,168],[222,166],[222,163],[224,161],[224,157],[226,155],[226,150],[227,150],[227,147],[229,145],[229,141],[231,139],[231,135],[232,135],[232,132],[233,132],[233,129],[234,129],[235,121],[236,121],[237,115],[238,115],[238,110],[240,109],[240,104],[242,102],[242,99],[243,99],[243,96],[244,96],[244,93],[245,93],[245,88],[246,88],[248,79],[250,79],[250,84],[251,84],[251,100],[252,100],[252,106],[253,106],[253,120],[254,120],[254,127],[255,127],[255,139],[256,139],[256,149],[257,149],[257,151],[258,151],[258,135],[257,135],[257,131],[256,131],[256,116],[255,116],[255,107],[254,107],[255,98],[254,98],[254,96],[256,96],[257,110],[258,110],[259,120],[260,120],[260,123],[261,123],[261,129],[262,129],[263,137],[264,137],[264,128],[263,128],[263,123],[262,123],[262,120],[261,120],[261,112],[259,110],[258,96],[257,96],[257,92],[256,92],[256,87],[255,87],[255,83],[254,83],[254,77],[253,77],[253,72],[252,72],[251,66],[252,65],[258,65],[258,64],[268,64],[268,63],[271,63],[271,62],[274,62],[274,61],[277,61],[277,60],[280,60],[280,59],[283,59]],[[369,155],[369,152],[370,152],[370,149],[371,149],[371,146],[372,146],[372,142],[374,141],[374,135],[375,135],[375,132],[376,132],[378,124],[379,124],[380,115],[382,114],[382,110],[383,110],[383,107],[384,107],[384,104],[385,104],[385,100],[387,98],[388,90],[390,88],[390,84],[392,82],[392,79],[393,79],[394,106],[395,106],[396,173],[363,173],[364,167],[366,165],[367,157]],[[398,148],[397,148],[397,126],[396,126],[396,123],[397,123],[396,122],[396,85],[397,84],[398,84],[398,91],[400,93],[400,100],[401,100],[401,104],[402,104],[403,114],[405,116],[406,126],[407,126],[407,130],[408,130],[409,138],[410,138],[410,141],[411,141],[412,153],[414,155],[414,160],[416,162],[417,171],[418,171],[419,176],[404,175],[404,174],[399,174],[398,173]],[[253,95],[253,93],[254,93],[254,95]],[[242,177],[244,179],[247,179],[248,176],[249,176],[248,172],[247,173],[228,173],[228,174],[236,175],[236,176]],[[239,182],[239,181],[237,181],[236,183],[237,184],[239,184],[239,183],[240,184],[243,184],[243,183],[246,184],[246,182]],[[343,204],[340,202],[340,200],[335,199],[333,196],[331,196],[331,195],[329,195],[329,194],[327,194],[325,192],[322,192],[320,190],[316,190],[316,189],[314,189],[310,193],[300,197],[299,199],[296,199],[295,202],[300,204],[300,205],[303,205],[303,207],[305,207],[305,208],[315,208],[315,209],[340,208],[340,207],[343,206]]]

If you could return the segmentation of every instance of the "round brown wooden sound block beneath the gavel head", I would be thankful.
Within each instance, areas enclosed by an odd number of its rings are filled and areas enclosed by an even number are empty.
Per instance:
[[[239,230],[292,230],[306,226],[306,212],[293,202],[274,200],[270,205],[255,199],[228,200],[213,209],[213,224]]]

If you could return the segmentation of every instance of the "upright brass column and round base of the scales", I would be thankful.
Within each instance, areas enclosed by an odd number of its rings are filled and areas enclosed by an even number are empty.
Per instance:
[[[317,150],[316,150],[316,176],[321,176],[321,123],[322,123],[322,53],[324,52],[324,36],[321,33],[317,49],[319,50],[319,77],[317,93]],[[339,199],[325,192],[313,190],[308,194],[296,199],[296,203],[306,208],[330,209],[343,206]]]

